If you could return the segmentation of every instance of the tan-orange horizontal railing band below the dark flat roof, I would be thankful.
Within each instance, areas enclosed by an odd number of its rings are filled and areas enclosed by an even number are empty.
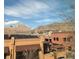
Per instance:
[[[10,46],[12,44],[12,39],[5,39],[4,46]],[[32,45],[32,44],[40,44],[40,38],[26,38],[26,39],[14,39],[14,44],[17,45]]]

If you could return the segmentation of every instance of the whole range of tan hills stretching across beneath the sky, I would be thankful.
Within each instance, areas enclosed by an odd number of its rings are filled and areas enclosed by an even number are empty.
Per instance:
[[[25,33],[25,34],[35,34],[44,33],[49,31],[75,31],[74,21],[64,21],[60,23],[51,23],[43,26],[39,26],[35,29],[31,29],[29,26],[23,24],[16,24],[15,26],[5,27],[4,33],[15,34],[15,33]]]

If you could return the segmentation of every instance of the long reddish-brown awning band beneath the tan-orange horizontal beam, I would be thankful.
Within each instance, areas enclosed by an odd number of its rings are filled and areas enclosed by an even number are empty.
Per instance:
[[[33,49],[40,49],[40,44],[16,46],[17,52],[18,51],[25,51],[25,50],[33,50]]]

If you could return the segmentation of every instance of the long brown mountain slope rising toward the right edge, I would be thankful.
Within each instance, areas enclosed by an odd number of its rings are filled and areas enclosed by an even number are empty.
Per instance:
[[[75,31],[75,22],[73,20],[51,23],[44,26],[39,26],[35,29],[37,32],[46,31]]]

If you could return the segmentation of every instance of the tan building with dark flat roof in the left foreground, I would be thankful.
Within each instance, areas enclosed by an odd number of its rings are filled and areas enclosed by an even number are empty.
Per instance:
[[[24,55],[28,55],[25,52],[30,54],[37,54],[36,59],[39,56],[40,47],[40,38],[37,36],[30,36],[32,38],[20,37],[20,35],[12,35],[14,37],[7,37],[5,35],[4,40],[4,57],[5,59],[24,59]],[[18,37],[17,37],[18,36]],[[22,35],[21,35],[22,36]],[[19,56],[21,55],[21,56]],[[28,58],[32,59],[34,55],[30,55]]]

